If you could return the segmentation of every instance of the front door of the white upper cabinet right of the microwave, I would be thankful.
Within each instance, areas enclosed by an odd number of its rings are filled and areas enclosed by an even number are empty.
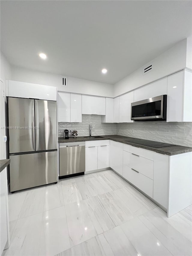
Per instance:
[[[168,76],[167,80],[167,122],[182,122],[183,71]]]

